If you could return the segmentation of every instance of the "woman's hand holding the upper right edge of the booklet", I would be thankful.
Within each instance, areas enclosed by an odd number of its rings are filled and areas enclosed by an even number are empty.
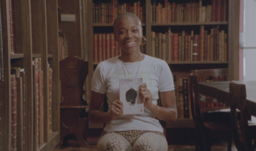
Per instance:
[[[149,89],[147,89],[146,83],[141,84],[139,97],[141,99],[141,103],[144,103],[144,107],[150,110],[152,107],[152,94]]]

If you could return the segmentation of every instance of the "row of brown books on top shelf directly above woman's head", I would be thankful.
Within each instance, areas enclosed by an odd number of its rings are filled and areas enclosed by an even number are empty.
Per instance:
[[[146,5],[141,1],[133,3],[120,4],[117,0],[111,0],[110,3],[94,3],[93,4],[93,23],[109,24],[114,23],[115,18],[124,12],[134,13],[140,18],[142,23],[146,20]]]

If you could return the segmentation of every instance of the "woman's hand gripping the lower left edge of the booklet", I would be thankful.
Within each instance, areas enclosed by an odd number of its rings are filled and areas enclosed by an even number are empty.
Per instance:
[[[123,116],[123,103],[121,102],[121,100],[115,100],[114,102],[112,102],[110,116],[111,120]]]

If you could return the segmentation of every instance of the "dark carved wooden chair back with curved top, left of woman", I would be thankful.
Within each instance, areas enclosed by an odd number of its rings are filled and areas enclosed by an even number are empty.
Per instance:
[[[88,62],[77,56],[60,61],[61,104],[60,106],[86,105],[84,82],[88,74]]]

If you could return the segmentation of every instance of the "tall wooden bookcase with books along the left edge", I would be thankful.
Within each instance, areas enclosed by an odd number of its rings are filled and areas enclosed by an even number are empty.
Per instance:
[[[3,141],[0,143],[0,150],[52,150],[60,136],[57,1],[4,0],[0,3],[3,40],[1,51],[4,56],[0,58],[3,60],[3,78],[0,81],[0,139]],[[33,62],[35,60],[41,61]],[[36,71],[40,73],[36,85],[33,84],[36,82],[33,64],[41,67],[40,71]],[[14,90],[12,84],[16,82],[11,81],[12,68],[17,67],[23,68],[25,72],[20,71],[22,78],[18,78],[16,74],[17,85]],[[52,83],[49,67],[53,70]],[[17,97],[13,97],[16,96],[15,93]],[[13,107],[15,99],[17,107]],[[49,111],[50,106],[52,113]],[[13,112],[13,109],[17,112]],[[35,116],[36,112],[38,117]],[[17,121],[13,117],[17,117]],[[38,129],[35,128],[37,120]],[[13,137],[14,126],[17,128],[16,137]]]

